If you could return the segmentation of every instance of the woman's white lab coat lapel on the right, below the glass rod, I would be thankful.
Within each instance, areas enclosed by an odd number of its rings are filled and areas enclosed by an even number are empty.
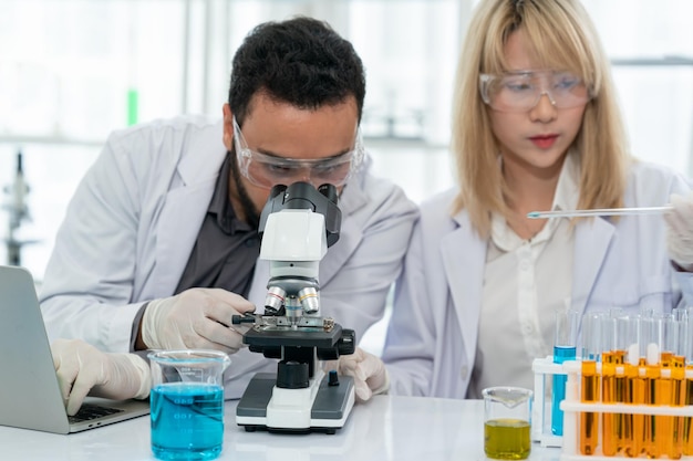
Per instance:
[[[614,234],[614,227],[602,218],[576,226],[572,271],[572,308],[580,316],[587,308],[597,275]]]

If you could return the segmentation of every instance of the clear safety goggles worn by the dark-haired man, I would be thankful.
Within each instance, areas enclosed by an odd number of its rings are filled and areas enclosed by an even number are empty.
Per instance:
[[[328,158],[286,158],[249,148],[234,117],[234,143],[241,175],[265,189],[296,181],[310,182],[316,187],[323,184],[340,187],[359,170],[364,156],[360,129],[356,129],[354,148],[344,154]]]

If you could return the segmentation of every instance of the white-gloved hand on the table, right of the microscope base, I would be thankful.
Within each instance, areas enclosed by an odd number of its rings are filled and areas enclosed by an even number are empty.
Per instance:
[[[325,371],[335,369],[339,375],[354,378],[354,391],[359,402],[364,402],[390,388],[390,376],[383,360],[361,347],[356,347],[351,355],[325,362],[323,368]]]

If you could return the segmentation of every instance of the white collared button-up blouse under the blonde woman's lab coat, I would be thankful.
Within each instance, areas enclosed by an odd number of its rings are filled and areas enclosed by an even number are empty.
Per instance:
[[[579,178],[578,155],[569,153],[552,210],[576,208]],[[552,354],[555,312],[570,302],[572,253],[568,218],[549,219],[532,239],[521,240],[494,213],[468,398],[482,398],[492,386],[534,388],[531,363]]]

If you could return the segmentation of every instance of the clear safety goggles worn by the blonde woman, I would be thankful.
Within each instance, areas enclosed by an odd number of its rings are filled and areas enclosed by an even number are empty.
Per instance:
[[[591,99],[582,78],[560,71],[518,71],[479,76],[482,98],[498,112],[527,112],[547,95],[557,108],[577,107]]]

